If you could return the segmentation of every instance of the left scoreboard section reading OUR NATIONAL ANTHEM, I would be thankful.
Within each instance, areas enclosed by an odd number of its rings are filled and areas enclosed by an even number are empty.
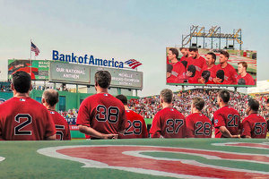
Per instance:
[[[90,84],[90,68],[79,64],[50,63],[49,81]]]

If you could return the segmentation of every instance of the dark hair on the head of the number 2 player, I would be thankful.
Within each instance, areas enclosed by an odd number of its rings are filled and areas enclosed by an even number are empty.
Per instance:
[[[20,93],[27,93],[30,90],[30,74],[27,72],[15,72],[13,73],[13,87]]]

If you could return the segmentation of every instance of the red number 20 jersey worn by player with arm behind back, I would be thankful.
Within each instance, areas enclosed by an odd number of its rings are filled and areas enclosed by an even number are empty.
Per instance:
[[[236,109],[230,106],[221,107],[214,113],[213,118],[216,138],[224,137],[219,130],[221,126],[225,126],[231,135],[239,134],[240,115]]]

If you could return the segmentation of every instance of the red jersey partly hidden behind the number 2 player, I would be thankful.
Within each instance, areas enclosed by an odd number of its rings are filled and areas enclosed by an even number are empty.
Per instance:
[[[56,140],[58,141],[71,140],[69,125],[67,124],[65,118],[54,110],[48,110],[48,112],[49,115],[53,118],[55,124]]]

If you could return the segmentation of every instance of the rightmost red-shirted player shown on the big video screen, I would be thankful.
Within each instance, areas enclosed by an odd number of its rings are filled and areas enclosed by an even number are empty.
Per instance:
[[[237,77],[238,84],[240,85],[255,85],[252,76],[247,72],[247,63],[239,62],[239,75]]]

